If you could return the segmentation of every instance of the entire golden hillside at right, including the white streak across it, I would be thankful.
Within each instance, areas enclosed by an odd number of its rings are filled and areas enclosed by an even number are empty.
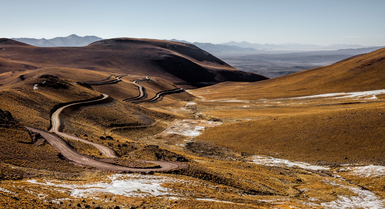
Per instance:
[[[197,139],[313,164],[383,165],[384,72],[381,48],[261,82],[190,90],[201,98],[198,111],[240,121],[205,130]]]

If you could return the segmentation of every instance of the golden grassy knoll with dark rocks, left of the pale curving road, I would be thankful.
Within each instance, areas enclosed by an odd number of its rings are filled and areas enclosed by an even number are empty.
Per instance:
[[[13,116],[24,125],[47,129],[50,110],[56,104],[100,95],[99,92],[62,79],[39,78],[38,76],[39,74],[26,74],[27,79],[8,86],[12,89],[0,91],[0,108],[12,112]],[[33,89],[33,85],[43,82],[62,85],[66,88],[55,89],[50,86],[39,86],[38,89]]]

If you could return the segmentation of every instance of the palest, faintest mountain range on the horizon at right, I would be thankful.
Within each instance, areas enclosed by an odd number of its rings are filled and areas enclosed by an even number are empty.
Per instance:
[[[249,43],[249,42],[227,42],[221,43],[221,45],[230,45],[244,48],[255,48],[259,50],[268,50],[268,49],[286,49],[286,50],[298,50],[298,49],[314,49],[314,50],[336,50],[336,49],[345,49],[345,48],[367,48],[375,46],[363,46],[363,45],[352,45],[352,44],[333,44],[328,46],[320,46],[314,44],[300,44],[300,43],[282,43],[282,44],[260,44],[260,43]]]

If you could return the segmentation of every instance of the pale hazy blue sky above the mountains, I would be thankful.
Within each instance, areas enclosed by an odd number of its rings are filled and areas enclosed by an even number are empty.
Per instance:
[[[385,45],[385,0],[12,0],[0,37]]]

